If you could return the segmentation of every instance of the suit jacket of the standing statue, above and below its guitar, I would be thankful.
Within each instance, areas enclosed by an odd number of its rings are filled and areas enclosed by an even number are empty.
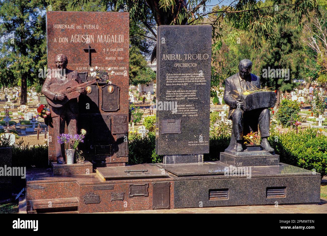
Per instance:
[[[44,96],[46,96],[50,100],[54,100],[56,93],[52,92],[49,88],[51,84],[63,84],[66,83],[69,80],[76,80],[78,83],[82,83],[81,79],[78,76],[78,73],[76,70],[69,70],[66,69],[67,77],[54,77],[52,78],[51,75],[49,75],[45,82],[43,83],[42,87],[42,93]],[[65,105],[62,107],[52,107],[49,105],[49,109],[51,110],[51,116],[56,117],[60,116],[66,108],[70,108],[70,110],[73,112],[73,114],[78,114],[78,103],[77,98],[69,100]]]

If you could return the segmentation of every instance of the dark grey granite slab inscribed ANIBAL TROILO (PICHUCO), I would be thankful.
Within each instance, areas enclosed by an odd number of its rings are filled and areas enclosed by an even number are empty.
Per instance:
[[[211,33],[211,26],[158,27],[156,153],[165,163],[209,153]]]

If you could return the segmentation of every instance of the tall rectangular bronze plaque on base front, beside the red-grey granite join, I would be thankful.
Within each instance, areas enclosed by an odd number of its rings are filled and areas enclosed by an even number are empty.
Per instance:
[[[153,183],[153,209],[169,209],[170,208],[170,182]]]

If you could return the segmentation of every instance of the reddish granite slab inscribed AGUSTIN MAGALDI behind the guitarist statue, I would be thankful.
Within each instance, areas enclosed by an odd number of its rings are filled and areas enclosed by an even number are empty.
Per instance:
[[[79,96],[78,130],[87,131],[80,144],[86,160],[101,166],[125,165],[127,152],[117,156],[116,134],[111,131],[116,115],[128,117],[129,13],[128,12],[47,12],[48,65],[54,66],[54,57],[63,53],[68,58],[68,69],[78,72],[83,82],[94,79],[90,73],[104,76],[109,81],[94,83],[86,88],[88,94]],[[97,66],[97,69],[95,68]],[[109,71],[108,71],[109,70]],[[109,72],[114,72],[109,75]],[[109,89],[112,87],[112,89]],[[123,120],[124,121],[124,120]],[[119,134],[128,136],[124,121]],[[53,128],[49,126],[49,162],[56,161]],[[116,129],[115,129],[116,130]],[[67,133],[67,129],[65,131]],[[122,156],[126,154],[125,156]]]

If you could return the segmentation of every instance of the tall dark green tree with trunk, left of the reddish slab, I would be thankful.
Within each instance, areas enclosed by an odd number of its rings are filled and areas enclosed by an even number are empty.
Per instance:
[[[37,78],[45,64],[46,5],[44,0],[0,2],[0,51],[8,68],[7,73],[2,70],[1,79],[21,85],[21,104],[27,104],[27,83]]]

